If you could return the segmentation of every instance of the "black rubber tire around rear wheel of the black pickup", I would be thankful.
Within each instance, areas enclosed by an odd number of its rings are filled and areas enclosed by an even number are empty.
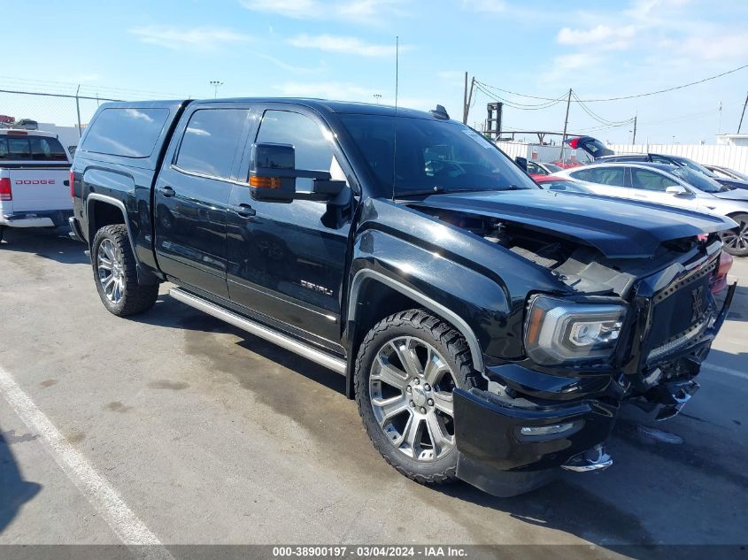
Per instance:
[[[114,257],[118,261],[121,270],[122,290],[121,297],[117,301],[112,301],[104,291],[104,286],[99,277],[97,255],[103,242],[109,240],[112,243]],[[91,245],[91,265],[94,271],[94,280],[96,281],[96,290],[101,298],[104,307],[117,315],[126,317],[148,311],[156,303],[158,297],[158,283],[140,285],[137,281],[137,265],[135,264],[135,255],[130,245],[130,239],[127,235],[127,226],[124,224],[115,224],[104,226],[96,232],[94,242]]]

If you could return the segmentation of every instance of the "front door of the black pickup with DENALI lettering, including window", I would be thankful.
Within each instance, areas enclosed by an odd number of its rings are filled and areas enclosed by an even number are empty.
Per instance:
[[[254,142],[291,144],[297,169],[328,171],[333,179],[346,180],[331,139],[312,114],[267,110]],[[243,173],[248,169],[243,166]],[[297,179],[297,191],[311,188],[312,180]],[[228,215],[232,301],[339,350],[350,212],[308,200],[258,202],[248,187],[238,185],[230,204],[235,209]]]

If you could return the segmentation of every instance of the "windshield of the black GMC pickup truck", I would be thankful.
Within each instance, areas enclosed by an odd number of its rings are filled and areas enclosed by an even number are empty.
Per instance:
[[[380,196],[537,188],[496,146],[464,125],[392,115],[343,114],[341,120]]]

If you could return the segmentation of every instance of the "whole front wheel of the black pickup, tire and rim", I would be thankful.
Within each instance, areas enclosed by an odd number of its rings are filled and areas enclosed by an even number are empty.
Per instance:
[[[385,460],[409,479],[455,479],[452,389],[473,387],[467,342],[420,310],[377,323],[361,342],[354,372],[366,433]]]

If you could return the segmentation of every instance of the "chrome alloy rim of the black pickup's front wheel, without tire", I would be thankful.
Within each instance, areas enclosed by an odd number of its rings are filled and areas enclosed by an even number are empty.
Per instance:
[[[369,375],[374,418],[390,443],[416,461],[435,461],[454,447],[454,387],[447,361],[411,336],[385,343]]]

